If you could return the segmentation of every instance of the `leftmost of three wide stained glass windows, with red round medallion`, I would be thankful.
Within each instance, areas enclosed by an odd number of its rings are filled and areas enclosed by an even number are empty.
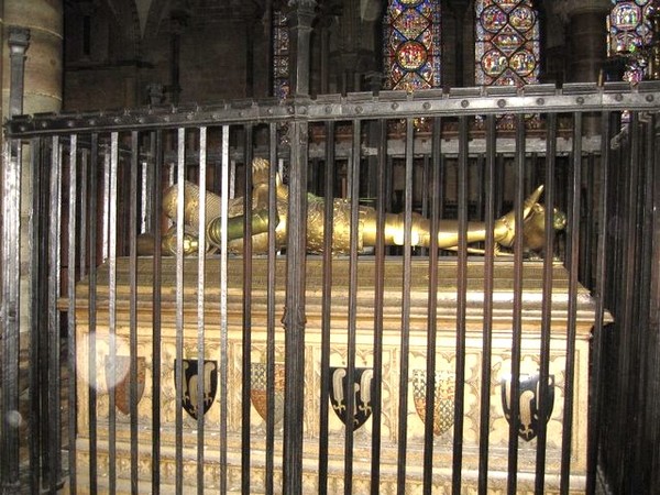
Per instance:
[[[406,91],[440,86],[440,2],[389,0],[385,13],[385,87]]]

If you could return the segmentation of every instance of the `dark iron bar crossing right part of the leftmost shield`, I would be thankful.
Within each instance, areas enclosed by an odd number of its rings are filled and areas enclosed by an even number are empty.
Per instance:
[[[138,494],[138,131],[131,132],[131,163],[129,170],[129,413],[131,431],[131,493]]]

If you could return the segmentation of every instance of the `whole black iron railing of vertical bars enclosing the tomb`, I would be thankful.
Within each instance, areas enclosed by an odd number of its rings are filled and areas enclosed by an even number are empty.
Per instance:
[[[2,490],[658,486],[641,446],[657,444],[660,414],[659,100],[650,82],[528,86],[12,119]],[[255,157],[272,164],[261,197]],[[163,193],[184,197],[186,180],[199,201],[176,204],[167,255]],[[539,184],[544,248],[518,231],[496,256],[495,219],[513,210],[521,226]],[[245,216],[237,255],[240,196],[265,201],[267,227],[257,245]],[[307,253],[309,201],[322,198],[345,200],[346,254],[332,253],[331,201],[322,254]],[[209,211],[219,249],[186,256],[184,234],[206,232]],[[449,220],[453,249],[436,235],[416,246],[417,213],[431,232]]]

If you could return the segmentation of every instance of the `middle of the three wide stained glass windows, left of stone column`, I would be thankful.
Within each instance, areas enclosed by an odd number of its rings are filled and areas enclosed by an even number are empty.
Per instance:
[[[538,82],[540,42],[530,0],[477,0],[475,81],[484,86]]]

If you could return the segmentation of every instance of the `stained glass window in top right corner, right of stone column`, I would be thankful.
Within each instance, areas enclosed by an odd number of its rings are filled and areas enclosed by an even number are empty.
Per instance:
[[[629,59],[624,79],[637,82],[644,78],[645,58],[640,48],[648,46],[653,38],[650,14],[652,0],[614,1],[607,16],[609,56],[624,56]]]

